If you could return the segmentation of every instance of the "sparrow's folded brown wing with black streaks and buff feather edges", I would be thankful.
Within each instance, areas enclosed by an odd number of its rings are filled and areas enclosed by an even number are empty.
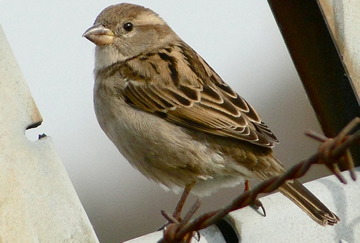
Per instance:
[[[257,112],[184,43],[123,63],[129,103],[169,122],[263,147],[277,143]]]

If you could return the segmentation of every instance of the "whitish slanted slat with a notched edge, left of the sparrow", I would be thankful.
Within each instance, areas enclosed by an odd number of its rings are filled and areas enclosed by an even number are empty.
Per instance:
[[[0,26],[0,242],[98,242]]]

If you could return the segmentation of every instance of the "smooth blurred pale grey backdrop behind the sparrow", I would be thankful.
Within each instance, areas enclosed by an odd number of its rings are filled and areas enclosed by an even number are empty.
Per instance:
[[[257,109],[280,139],[275,152],[287,166],[317,149],[303,131],[320,131],[318,123],[266,1],[129,2],[159,13]],[[115,3],[0,0],[0,24],[44,118],[27,136],[52,137],[102,242],[157,229],[165,222],[160,210],[171,212],[179,197],[135,171],[94,115],[94,44],[81,35]],[[306,180],[325,174],[316,168],[311,172]],[[203,200],[201,210],[224,205],[241,191],[215,193]]]

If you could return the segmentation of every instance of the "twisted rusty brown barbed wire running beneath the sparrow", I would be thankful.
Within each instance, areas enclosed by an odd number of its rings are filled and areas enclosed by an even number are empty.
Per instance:
[[[295,166],[291,167],[285,174],[268,179],[253,189],[245,191],[236,197],[230,204],[208,213],[204,213],[199,217],[190,220],[191,216],[199,207],[199,201],[196,201],[194,206],[190,209],[184,219],[179,222],[173,219],[171,215],[162,211],[164,217],[169,221],[169,224],[163,230],[163,238],[160,243],[167,242],[190,242],[194,232],[204,229],[212,224],[220,221],[231,211],[246,207],[255,202],[260,193],[270,193],[279,188],[286,180],[298,179],[302,177],[313,164],[323,164],[331,170],[331,172],[346,184],[346,179],[341,175],[338,164],[342,163],[350,172],[352,180],[356,180],[354,162],[349,152],[349,146],[357,141],[360,141],[360,130],[351,134],[354,128],[360,124],[360,118],[353,119],[335,138],[327,138],[321,134],[312,131],[306,132],[306,135],[316,139],[322,144],[316,154],[312,155],[309,159],[303,160]]]

